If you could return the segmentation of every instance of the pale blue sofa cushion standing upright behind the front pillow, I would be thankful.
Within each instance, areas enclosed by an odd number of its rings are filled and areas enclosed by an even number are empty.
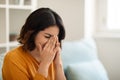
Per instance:
[[[98,59],[95,41],[91,38],[79,41],[65,41],[62,44],[64,69],[71,63]]]

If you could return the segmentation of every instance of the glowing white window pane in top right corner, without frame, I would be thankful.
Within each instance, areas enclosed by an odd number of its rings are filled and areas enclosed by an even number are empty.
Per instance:
[[[107,1],[107,28],[120,30],[120,0]]]

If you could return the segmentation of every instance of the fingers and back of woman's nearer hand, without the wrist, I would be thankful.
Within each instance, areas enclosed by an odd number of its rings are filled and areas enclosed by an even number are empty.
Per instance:
[[[58,51],[58,47],[56,46],[57,43],[57,37],[51,37],[49,39],[49,41],[46,43],[46,45],[44,46],[43,50],[42,50],[42,59],[45,60],[45,62],[47,61],[47,63],[51,63],[51,61],[53,61],[57,51]]]

